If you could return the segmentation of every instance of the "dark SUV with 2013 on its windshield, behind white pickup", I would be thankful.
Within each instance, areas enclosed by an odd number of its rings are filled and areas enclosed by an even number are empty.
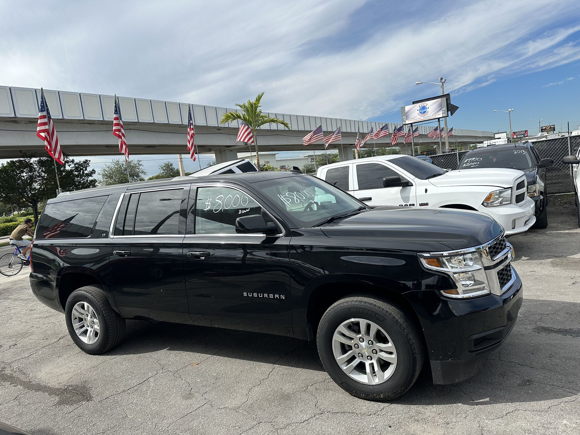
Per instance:
[[[463,155],[457,169],[509,168],[523,171],[528,184],[528,197],[536,203],[536,223],[532,228],[546,228],[546,168],[553,164],[553,159],[541,158],[531,142],[523,142],[476,148]]]

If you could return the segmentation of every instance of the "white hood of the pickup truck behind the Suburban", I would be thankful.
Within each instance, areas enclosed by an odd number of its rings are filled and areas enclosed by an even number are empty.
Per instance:
[[[478,168],[458,169],[427,181],[438,187],[447,186],[497,186],[513,187],[522,172],[517,169]]]

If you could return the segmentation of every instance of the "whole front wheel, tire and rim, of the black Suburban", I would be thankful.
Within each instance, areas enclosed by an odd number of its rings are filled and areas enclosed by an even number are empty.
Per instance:
[[[318,353],[331,378],[355,397],[391,400],[419,376],[424,350],[411,319],[367,296],[335,302],[318,325]]]

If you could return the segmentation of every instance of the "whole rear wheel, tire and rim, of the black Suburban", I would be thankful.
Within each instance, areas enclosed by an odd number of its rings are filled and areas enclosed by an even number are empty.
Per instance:
[[[125,319],[111,308],[99,287],[75,290],[68,296],[64,312],[68,333],[86,353],[105,353],[117,346],[125,333]]]

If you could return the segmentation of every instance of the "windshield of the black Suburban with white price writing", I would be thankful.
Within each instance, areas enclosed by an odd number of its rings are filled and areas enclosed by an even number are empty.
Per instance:
[[[284,177],[255,185],[300,227],[313,227],[332,216],[357,211],[363,205],[313,176]]]

